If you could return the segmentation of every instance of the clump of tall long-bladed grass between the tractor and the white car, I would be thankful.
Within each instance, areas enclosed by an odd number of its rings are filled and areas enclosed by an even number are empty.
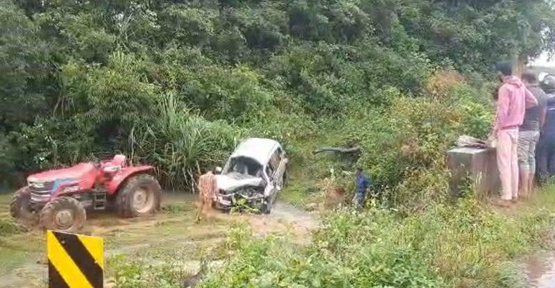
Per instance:
[[[130,135],[133,158],[158,167],[165,187],[189,187],[214,167],[239,141],[239,130],[223,121],[210,122],[180,104],[168,94],[158,105],[157,119],[135,126]]]

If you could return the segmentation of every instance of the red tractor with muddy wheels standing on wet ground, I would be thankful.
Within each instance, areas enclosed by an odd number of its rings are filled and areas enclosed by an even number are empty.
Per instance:
[[[162,188],[152,166],[128,166],[126,156],[86,162],[37,173],[17,190],[10,214],[39,221],[49,230],[75,232],[83,228],[86,210],[114,208],[122,217],[137,217],[160,208]]]

